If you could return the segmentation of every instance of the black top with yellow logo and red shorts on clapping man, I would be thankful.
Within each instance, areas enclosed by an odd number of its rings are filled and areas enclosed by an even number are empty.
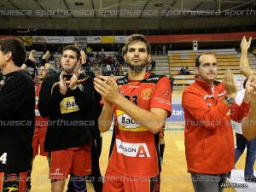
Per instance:
[[[95,128],[96,105],[92,79],[86,79],[75,90],[68,88],[62,96],[60,74],[45,79],[39,94],[38,109],[43,117],[49,117],[44,148],[50,152],[49,178],[66,179],[69,173],[76,176],[90,174],[90,129]],[[71,75],[64,75],[67,80]]]

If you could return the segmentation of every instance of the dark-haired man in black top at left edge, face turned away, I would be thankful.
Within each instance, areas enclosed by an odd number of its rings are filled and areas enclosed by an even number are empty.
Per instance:
[[[26,191],[32,162],[35,90],[28,73],[20,70],[26,49],[15,38],[0,40],[0,67],[5,76],[0,90],[0,191]]]

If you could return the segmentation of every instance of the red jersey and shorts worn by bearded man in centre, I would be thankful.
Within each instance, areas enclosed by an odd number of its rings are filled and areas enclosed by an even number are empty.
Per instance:
[[[120,92],[139,108],[162,108],[171,114],[171,85],[166,76],[146,73],[142,81],[118,79]],[[159,135],[139,125],[118,107],[103,191],[160,189]],[[114,177],[114,179],[112,179]]]

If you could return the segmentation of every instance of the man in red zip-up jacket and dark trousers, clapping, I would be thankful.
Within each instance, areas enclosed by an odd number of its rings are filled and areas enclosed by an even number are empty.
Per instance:
[[[218,63],[212,54],[196,58],[195,73],[195,82],[183,91],[182,98],[188,171],[196,192],[223,191],[222,183],[235,159],[230,120],[241,121],[247,114],[252,88],[247,86],[238,106],[232,73],[228,70],[223,83],[216,81]]]

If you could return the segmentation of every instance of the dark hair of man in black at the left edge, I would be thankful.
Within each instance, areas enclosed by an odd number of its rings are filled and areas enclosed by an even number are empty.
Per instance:
[[[3,54],[9,51],[12,53],[12,60],[15,66],[21,67],[26,59],[26,49],[22,41],[18,38],[3,38],[0,40],[0,49]]]

